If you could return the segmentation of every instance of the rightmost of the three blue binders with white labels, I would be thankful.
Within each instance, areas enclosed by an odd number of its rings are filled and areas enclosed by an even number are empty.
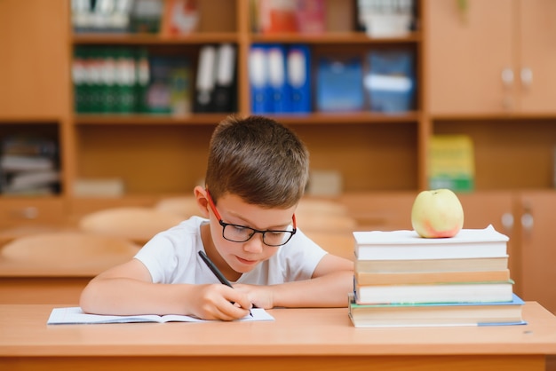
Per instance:
[[[290,112],[311,112],[311,62],[307,45],[291,45],[287,59]]]

